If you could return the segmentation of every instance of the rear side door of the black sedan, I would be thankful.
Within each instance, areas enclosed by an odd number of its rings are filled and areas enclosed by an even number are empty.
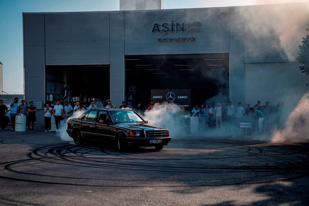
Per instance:
[[[95,139],[92,132],[97,112],[93,110],[89,111],[79,123],[83,137],[86,139]]]

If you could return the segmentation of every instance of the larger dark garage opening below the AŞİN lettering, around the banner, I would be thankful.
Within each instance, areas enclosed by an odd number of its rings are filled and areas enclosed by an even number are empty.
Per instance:
[[[126,101],[147,105],[154,89],[189,89],[191,105],[219,93],[228,101],[229,69],[228,53],[125,56]]]

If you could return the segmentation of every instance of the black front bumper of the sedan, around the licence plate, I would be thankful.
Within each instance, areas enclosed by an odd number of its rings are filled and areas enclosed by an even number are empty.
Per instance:
[[[162,140],[159,144],[150,144],[150,140]],[[136,147],[152,147],[155,145],[167,145],[171,141],[171,137],[127,137],[129,146]]]

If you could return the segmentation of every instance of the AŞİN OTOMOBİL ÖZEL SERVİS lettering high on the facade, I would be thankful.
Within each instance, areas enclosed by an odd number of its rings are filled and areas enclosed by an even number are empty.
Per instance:
[[[167,35],[168,32],[201,32],[201,22],[165,22],[162,24],[154,23],[151,33]],[[195,36],[176,36],[176,37],[158,37],[158,42],[184,42],[195,41]]]

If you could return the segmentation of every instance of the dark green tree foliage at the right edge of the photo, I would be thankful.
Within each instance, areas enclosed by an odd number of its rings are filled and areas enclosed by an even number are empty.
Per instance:
[[[307,26],[309,26],[309,24]],[[306,29],[306,31],[309,32],[309,29]],[[301,64],[299,69],[307,75],[309,74],[309,34],[303,37],[302,43],[303,45],[299,46],[298,57],[296,60]]]

